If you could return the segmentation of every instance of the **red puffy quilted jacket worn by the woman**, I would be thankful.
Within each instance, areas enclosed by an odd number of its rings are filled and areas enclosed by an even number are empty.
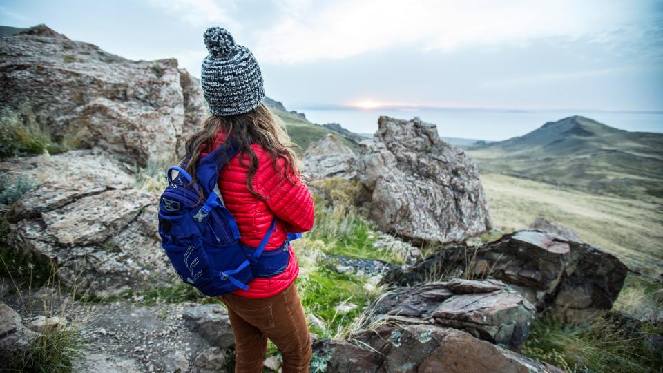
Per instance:
[[[217,133],[212,149],[204,149],[201,157],[216,149],[225,138],[224,132]],[[290,173],[295,185],[285,178],[285,160],[277,159],[277,172],[271,157],[262,146],[253,144],[251,148],[258,156],[258,170],[252,182],[253,190],[267,200],[256,198],[247,188],[249,169],[240,164],[239,155],[233,157],[219,173],[221,196],[237,221],[242,236],[240,242],[244,245],[257,247],[276,216],[276,230],[271,234],[265,250],[280,249],[287,232],[305,232],[313,227],[313,198],[298,175]],[[248,155],[245,155],[244,164],[248,163]],[[299,274],[299,265],[292,247],[289,251],[290,261],[285,271],[270,278],[256,278],[247,284],[249,290],[238,289],[233,291],[233,294],[247,298],[267,298],[285,289]]]

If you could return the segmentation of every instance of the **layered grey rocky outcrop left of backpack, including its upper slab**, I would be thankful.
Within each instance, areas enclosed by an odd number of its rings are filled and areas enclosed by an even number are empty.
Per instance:
[[[158,196],[131,189],[133,176],[108,155],[69,151],[0,169],[46,180],[10,207],[8,242],[54,263],[62,285],[105,297],[175,278],[157,234]]]

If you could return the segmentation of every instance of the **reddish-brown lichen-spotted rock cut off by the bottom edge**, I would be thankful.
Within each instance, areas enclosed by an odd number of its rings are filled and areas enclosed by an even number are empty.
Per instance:
[[[358,345],[330,340],[314,345],[325,372],[562,372],[460,330],[435,325],[386,324],[360,331],[355,338]]]

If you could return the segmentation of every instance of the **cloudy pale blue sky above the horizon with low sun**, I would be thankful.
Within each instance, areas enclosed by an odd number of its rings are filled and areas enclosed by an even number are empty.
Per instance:
[[[663,0],[0,0],[38,23],[196,76],[222,26],[289,108],[663,111]]]

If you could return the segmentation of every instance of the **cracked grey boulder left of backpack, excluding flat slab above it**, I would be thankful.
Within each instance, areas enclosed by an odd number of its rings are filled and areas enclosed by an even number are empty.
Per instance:
[[[157,235],[157,195],[108,189],[70,195],[61,207],[42,197],[68,193],[65,184],[42,184],[15,209],[11,247],[53,262],[61,285],[99,298],[168,285],[176,278]]]

